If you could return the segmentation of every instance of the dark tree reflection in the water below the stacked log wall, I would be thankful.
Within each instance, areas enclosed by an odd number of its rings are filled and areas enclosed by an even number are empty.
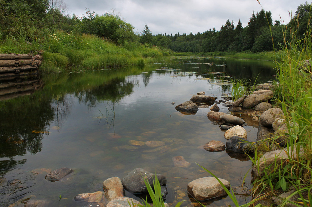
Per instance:
[[[0,107],[0,156],[12,157],[41,151],[42,133],[53,120],[50,102],[33,96],[2,102]]]

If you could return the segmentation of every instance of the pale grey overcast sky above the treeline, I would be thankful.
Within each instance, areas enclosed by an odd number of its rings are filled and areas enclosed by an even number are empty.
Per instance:
[[[141,33],[145,24],[153,34],[190,34],[204,32],[213,27],[220,30],[229,19],[241,19],[247,26],[253,11],[270,10],[275,20],[289,22],[289,12],[294,14],[305,0],[63,0],[68,13],[82,16],[85,9],[103,15],[112,9]],[[308,3],[311,3],[308,1]]]

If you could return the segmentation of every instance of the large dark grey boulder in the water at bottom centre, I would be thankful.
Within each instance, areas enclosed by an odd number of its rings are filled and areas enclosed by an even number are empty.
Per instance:
[[[144,183],[144,178],[149,182],[153,187],[153,179],[155,180],[155,175],[146,171],[142,168],[136,168],[129,172],[122,180],[121,183],[124,186],[125,190],[128,190],[130,193],[147,193],[147,188]],[[158,174],[157,179],[160,183],[160,186],[165,186],[167,184],[167,179],[165,176]]]

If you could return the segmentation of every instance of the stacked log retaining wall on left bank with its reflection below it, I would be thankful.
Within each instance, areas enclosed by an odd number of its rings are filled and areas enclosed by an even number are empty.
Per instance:
[[[41,55],[0,54],[0,101],[32,94],[41,88]]]

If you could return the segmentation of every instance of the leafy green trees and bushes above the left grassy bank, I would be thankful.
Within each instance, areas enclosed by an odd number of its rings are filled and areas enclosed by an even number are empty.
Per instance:
[[[139,42],[134,27],[119,15],[105,12],[97,15],[86,9],[85,15],[67,14],[63,0],[0,0],[0,40],[25,38],[44,43],[56,30],[76,34],[94,34],[124,45]]]

